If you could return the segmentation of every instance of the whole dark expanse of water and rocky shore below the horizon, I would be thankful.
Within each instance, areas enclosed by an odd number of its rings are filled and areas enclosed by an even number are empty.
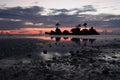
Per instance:
[[[0,80],[120,80],[118,36],[0,38]]]

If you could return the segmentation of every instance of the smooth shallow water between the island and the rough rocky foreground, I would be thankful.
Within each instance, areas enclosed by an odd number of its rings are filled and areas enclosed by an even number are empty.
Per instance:
[[[71,52],[79,53],[86,47],[120,44],[120,36],[1,36],[0,44],[0,59],[52,60],[53,57],[70,55]]]

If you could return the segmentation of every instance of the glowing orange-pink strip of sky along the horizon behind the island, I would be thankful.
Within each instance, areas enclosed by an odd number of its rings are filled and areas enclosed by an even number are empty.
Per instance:
[[[64,30],[68,30],[71,32],[71,29],[74,27],[59,27],[60,30],[63,32]],[[15,30],[0,30],[0,34],[45,34],[45,32],[55,31],[56,28],[20,28]],[[84,29],[84,27],[80,28],[81,30]],[[90,27],[87,27],[86,29],[90,29]],[[95,28],[98,32],[104,32],[101,28]],[[111,33],[113,30],[108,29],[106,32]]]

